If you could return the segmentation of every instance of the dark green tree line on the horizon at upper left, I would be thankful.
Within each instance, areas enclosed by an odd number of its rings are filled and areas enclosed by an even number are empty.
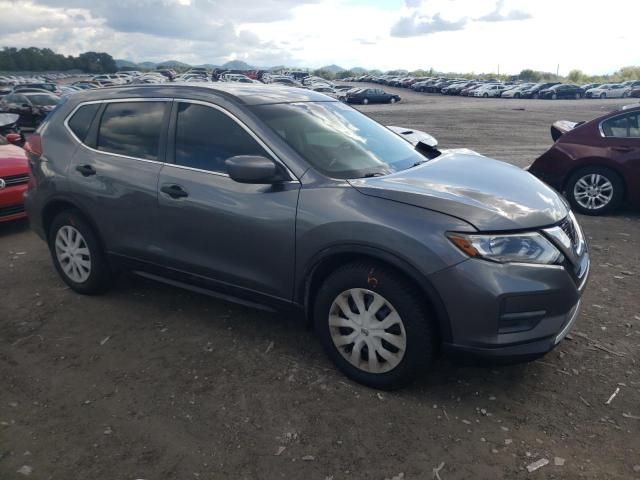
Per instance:
[[[112,73],[116,62],[108,53],[85,52],[77,57],[64,56],[49,48],[13,48],[0,50],[0,71],[50,72],[82,70],[86,73]]]

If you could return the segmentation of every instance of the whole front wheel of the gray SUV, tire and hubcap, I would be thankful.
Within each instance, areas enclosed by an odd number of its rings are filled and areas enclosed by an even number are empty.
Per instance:
[[[346,376],[373,388],[397,389],[424,373],[434,357],[435,334],[421,298],[387,267],[348,264],[319,289],[315,327]]]

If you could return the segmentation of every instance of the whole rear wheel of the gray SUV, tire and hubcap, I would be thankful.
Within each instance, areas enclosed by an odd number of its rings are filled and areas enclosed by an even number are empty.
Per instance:
[[[103,292],[111,271],[98,237],[76,211],[59,213],[49,229],[53,264],[69,287],[78,293]]]

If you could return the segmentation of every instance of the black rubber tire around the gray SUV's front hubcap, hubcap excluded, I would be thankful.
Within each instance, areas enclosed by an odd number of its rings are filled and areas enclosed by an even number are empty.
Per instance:
[[[370,373],[356,367],[342,356],[331,338],[329,313],[334,300],[341,293],[357,288],[375,292],[388,300],[404,326],[404,356],[395,368],[387,372]],[[423,295],[413,285],[388,267],[366,261],[347,264],[333,272],[317,292],[313,309],[315,329],[325,351],[347,377],[381,390],[401,388],[424,374],[435,356],[435,329],[422,298]],[[366,352],[368,356],[368,350]]]

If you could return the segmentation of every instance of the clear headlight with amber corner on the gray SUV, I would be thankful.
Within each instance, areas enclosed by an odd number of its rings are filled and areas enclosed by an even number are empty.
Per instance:
[[[450,232],[447,237],[464,253],[498,263],[558,263],[560,251],[541,234],[467,235]]]

